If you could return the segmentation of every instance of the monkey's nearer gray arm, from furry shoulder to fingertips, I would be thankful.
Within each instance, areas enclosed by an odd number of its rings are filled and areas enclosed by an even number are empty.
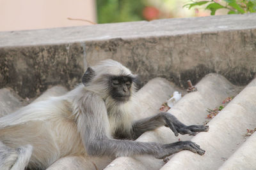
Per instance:
[[[190,150],[200,155],[205,152],[191,141],[162,145],[112,139],[109,135],[105,103],[99,96],[90,92],[77,99],[74,112],[77,114],[77,130],[89,155],[118,157],[148,154],[161,159],[180,150]]]

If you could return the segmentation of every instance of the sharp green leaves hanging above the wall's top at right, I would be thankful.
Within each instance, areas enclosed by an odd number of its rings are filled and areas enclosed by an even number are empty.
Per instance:
[[[210,10],[211,15],[215,15],[216,10],[227,9],[228,14],[235,13],[254,13],[256,12],[256,0],[223,0],[222,2],[213,1],[193,1],[191,0],[188,4],[185,4],[183,7],[202,6],[207,4],[205,10]]]

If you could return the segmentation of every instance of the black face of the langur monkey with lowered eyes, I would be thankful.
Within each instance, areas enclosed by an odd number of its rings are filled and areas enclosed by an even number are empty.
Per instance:
[[[128,101],[131,96],[132,78],[130,76],[111,76],[110,94],[116,101]]]

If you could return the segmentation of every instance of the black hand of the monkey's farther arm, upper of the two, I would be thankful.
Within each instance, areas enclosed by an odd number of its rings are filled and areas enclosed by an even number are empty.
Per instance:
[[[208,125],[184,125],[176,117],[168,112],[163,113],[163,117],[165,120],[165,126],[170,127],[175,136],[179,136],[179,134],[196,135],[198,132],[209,131]]]

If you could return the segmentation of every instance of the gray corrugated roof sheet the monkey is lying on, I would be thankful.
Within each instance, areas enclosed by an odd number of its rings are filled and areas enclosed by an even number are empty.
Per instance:
[[[81,160],[81,169],[255,169],[256,135],[246,136],[247,129],[256,127],[256,79],[246,87],[232,85],[219,74],[207,74],[195,85],[196,92],[185,94],[168,112],[186,125],[207,124],[209,132],[200,132],[196,136],[174,136],[167,127],[145,132],[137,139],[144,142],[173,143],[179,140],[192,140],[206,152],[203,156],[189,151],[181,151],[169,157],[164,163],[147,155],[118,157],[115,160],[102,157],[91,158],[89,162]],[[142,112],[140,117],[157,113],[161,104],[170,98],[175,90],[180,90],[163,78],[155,78],[138,92]],[[60,96],[67,92],[63,87],[53,87],[33,102]],[[182,92],[184,94],[184,91]],[[219,108],[227,97],[234,97],[223,110],[211,119],[207,118],[208,109]],[[0,114],[6,115],[26,105],[17,94],[9,89],[0,90]],[[113,160],[113,161],[112,161]],[[79,162],[74,157],[60,159],[49,169],[71,166]],[[95,164],[93,165],[92,162]]]

